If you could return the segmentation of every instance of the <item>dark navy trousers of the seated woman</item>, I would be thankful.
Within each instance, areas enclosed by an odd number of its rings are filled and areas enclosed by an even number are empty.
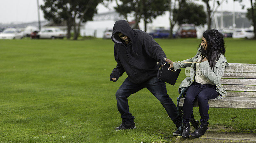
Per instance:
[[[202,124],[208,124],[209,119],[209,99],[215,99],[218,97],[218,92],[215,89],[215,85],[192,83],[186,92],[186,96],[183,104],[183,123],[189,123],[193,110],[193,104],[198,99],[198,107],[201,115],[200,122]]]

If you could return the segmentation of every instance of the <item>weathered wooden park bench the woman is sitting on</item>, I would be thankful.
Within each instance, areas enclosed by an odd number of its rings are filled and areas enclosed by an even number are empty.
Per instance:
[[[256,64],[229,64],[221,78],[221,84],[228,92],[224,99],[208,100],[209,107],[218,108],[250,108],[256,109]],[[179,96],[177,106],[179,114],[182,114],[184,98]],[[198,107],[198,101],[194,102]],[[199,127],[199,121],[195,121],[191,115],[193,127]]]

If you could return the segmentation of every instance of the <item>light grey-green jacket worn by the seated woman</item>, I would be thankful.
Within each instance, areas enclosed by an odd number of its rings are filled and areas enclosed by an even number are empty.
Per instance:
[[[196,63],[184,63],[184,62],[197,62],[197,60],[201,57],[201,52],[199,50],[196,53],[196,56],[190,58],[188,60],[183,60],[182,62],[173,62],[174,70],[178,68],[186,68],[190,67],[190,77],[186,77],[180,84],[179,92],[181,89],[185,89],[184,87],[190,86],[195,81],[196,75]],[[226,57],[221,54],[219,60],[215,64],[213,70],[209,65],[208,60],[199,63],[199,68],[202,74],[207,77],[212,83],[216,85],[215,89],[219,93],[219,96],[216,99],[224,99],[227,95],[227,92],[223,88],[220,83],[221,76],[224,74],[224,70],[229,67]],[[187,89],[187,88],[186,88]]]

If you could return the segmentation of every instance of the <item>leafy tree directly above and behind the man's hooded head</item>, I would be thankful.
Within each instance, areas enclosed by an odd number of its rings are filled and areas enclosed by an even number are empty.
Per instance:
[[[162,15],[168,10],[169,0],[120,0],[122,4],[117,4],[116,12],[127,20],[127,14],[132,14],[135,25],[138,25],[140,19],[144,20],[145,31],[147,31],[147,24],[152,22],[158,15]],[[117,3],[117,1],[116,1]]]

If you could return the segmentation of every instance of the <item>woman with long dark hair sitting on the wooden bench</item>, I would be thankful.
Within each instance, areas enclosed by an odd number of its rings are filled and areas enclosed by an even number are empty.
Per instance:
[[[221,76],[228,62],[225,55],[225,44],[222,34],[216,30],[206,30],[203,33],[202,42],[198,46],[196,56],[183,61],[170,63],[170,68],[190,68],[190,77],[186,77],[179,87],[187,90],[183,104],[183,131],[182,137],[188,138],[190,134],[190,119],[193,110],[193,103],[197,99],[199,112],[201,115],[201,125],[191,133],[192,137],[198,138],[204,135],[208,129],[209,119],[209,99],[223,99],[227,92],[220,83]],[[185,88],[186,87],[186,88]]]

